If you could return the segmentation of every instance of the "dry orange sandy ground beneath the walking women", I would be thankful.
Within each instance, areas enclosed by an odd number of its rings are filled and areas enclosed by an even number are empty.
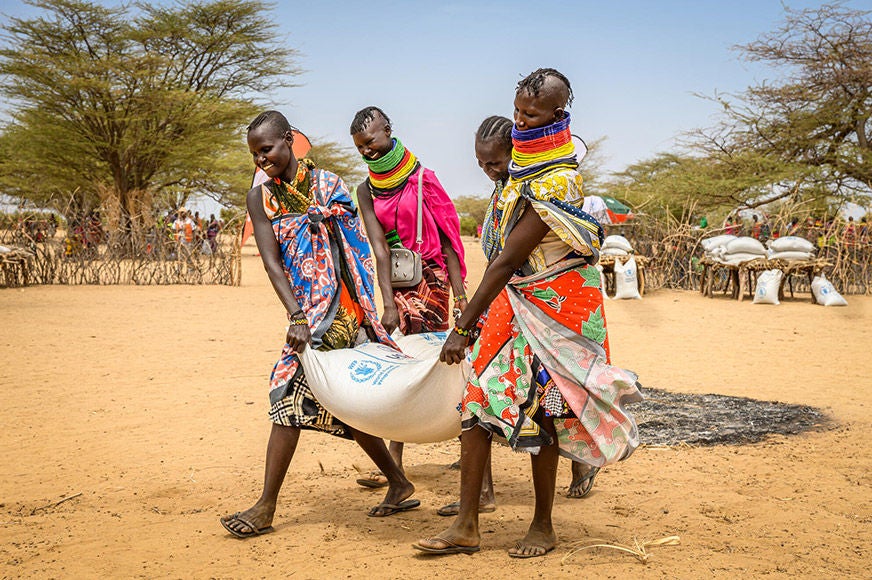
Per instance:
[[[472,242],[471,279],[481,272]],[[0,291],[0,575],[142,578],[868,577],[872,546],[872,298],[780,306],[657,291],[607,304],[612,356],[646,386],[821,408],[833,424],[748,446],[643,447],[582,500],[560,495],[561,543],[506,550],[531,516],[529,460],[495,448],[498,509],[482,551],[410,547],[447,521],[456,442],[410,445],[418,510],[375,519],[353,443],[304,433],[276,532],[219,516],[260,491],[267,381],[285,320],[253,248],[243,285]],[[702,419],[705,421],[705,418]],[[357,467],[356,467],[357,466]],[[560,491],[569,483],[561,461]],[[679,536],[643,564],[597,548]]]

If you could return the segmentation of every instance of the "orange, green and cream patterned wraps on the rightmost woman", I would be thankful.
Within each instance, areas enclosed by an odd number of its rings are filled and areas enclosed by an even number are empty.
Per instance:
[[[463,428],[479,425],[515,450],[538,453],[551,443],[542,425],[553,421],[561,455],[600,467],[639,445],[624,405],[642,397],[637,376],[610,364],[593,265],[601,230],[574,211],[583,201],[580,182],[559,168],[529,182],[512,179],[500,192],[493,230],[500,247],[526,206],[551,229],[551,245],[565,247],[534,250],[491,304],[472,350]]]

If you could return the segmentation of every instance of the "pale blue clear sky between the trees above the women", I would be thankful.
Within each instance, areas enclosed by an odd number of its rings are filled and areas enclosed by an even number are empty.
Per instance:
[[[872,8],[870,0],[847,5]],[[717,105],[694,93],[776,79],[731,47],[775,29],[784,8],[780,0],[281,0],[273,13],[276,34],[300,52],[306,72],[296,79],[302,86],[263,95],[264,104],[309,135],[348,146],[354,113],[378,105],[458,196],[490,192],[473,134],[489,115],[511,117],[526,73],[550,66],[569,77],[573,132],[606,137],[606,167],[621,170],[672,149],[681,131],[712,124]]]

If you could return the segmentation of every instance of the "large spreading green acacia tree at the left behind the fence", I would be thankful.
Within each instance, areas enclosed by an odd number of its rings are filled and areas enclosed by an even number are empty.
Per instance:
[[[255,97],[299,73],[268,5],[27,1],[42,14],[2,28],[4,193],[45,201],[75,192],[83,207],[108,200],[130,232],[156,197],[244,190],[240,128]]]

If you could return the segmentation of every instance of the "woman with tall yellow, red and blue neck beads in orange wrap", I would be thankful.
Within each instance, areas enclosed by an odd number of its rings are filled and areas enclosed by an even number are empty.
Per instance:
[[[539,69],[515,93],[510,179],[495,204],[499,253],[458,318],[441,360],[460,363],[478,317],[462,403],[460,510],[413,547],[429,554],[479,551],[482,475],[491,437],[531,454],[536,505],[513,558],[554,549],[551,520],[559,455],[601,467],[629,457],[638,432],[625,403],[641,400],[635,374],[609,364],[600,276],[602,228],[584,213],[565,107],[565,76]],[[485,237],[485,233],[482,234]]]

